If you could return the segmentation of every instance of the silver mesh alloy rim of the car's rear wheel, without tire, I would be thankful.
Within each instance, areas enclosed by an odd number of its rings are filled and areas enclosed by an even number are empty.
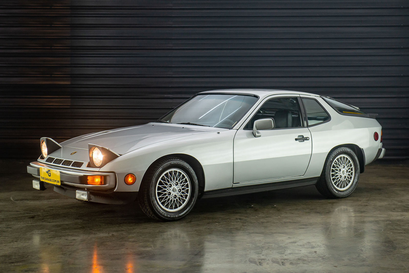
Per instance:
[[[337,156],[331,165],[331,182],[337,190],[347,190],[355,177],[355,168],[351,157],[346,154]]]

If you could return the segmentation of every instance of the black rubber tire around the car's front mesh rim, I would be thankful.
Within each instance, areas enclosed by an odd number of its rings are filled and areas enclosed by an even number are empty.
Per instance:
[[[190,190],[188,190],[190,194],[189,197],[184,195],[185,201],[183,207],[180,209],[174,207],[172,209],[172,207],[169,207],[167,208],[168,210],[166,210],[166,207],[164,208],[164,206],[166,206],[163,203],[164,201],[160,202],[157,198],[156,188],[162,175],[171,169],[180,170],[183,174],[187,175],[188,179],[184,181],[190,181]],[[173,186],[177,186],[177,184],[173,184]],[[173,186],[169,187],[170,195],[173,194],[171,193],[171,190],[176,189]],[[196,177],[196,173],[194,172],[193,168],[182,159],[169,158],[158,161],[146,171],[144,180],[139,188],[138,201],[142,211],[148,217],[163,221],[175,221],[185,217],[192,210],[193,206],[196,204],[196,200],[198,199],[198,192],[198,178]],[[161,198],[159,197],[159,199]],[[171,205],[169,204],[168,206]],[[170,209],[175,211],[169,211]]]

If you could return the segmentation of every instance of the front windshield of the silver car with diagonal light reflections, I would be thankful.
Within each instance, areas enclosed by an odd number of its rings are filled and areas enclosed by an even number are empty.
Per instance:
[[[161,121],[231,129],[258,98],[247,95],[197,95],[175,108]]]

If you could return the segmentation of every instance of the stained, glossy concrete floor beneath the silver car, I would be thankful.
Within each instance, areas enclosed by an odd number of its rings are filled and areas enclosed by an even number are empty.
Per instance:
[[[200,200],[178,222],[31,188],[0,161],[0,272],[409,271],[409,165],[372,164],[346,199],[312,186]]]

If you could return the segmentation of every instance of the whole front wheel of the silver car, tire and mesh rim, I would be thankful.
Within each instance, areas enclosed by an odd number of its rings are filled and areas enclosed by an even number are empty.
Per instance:
[[[196,203],[198,179],[193,168],[182,159],[164,159],[148,169],[138,195],[139,205],[149,217],[178,220]]]

